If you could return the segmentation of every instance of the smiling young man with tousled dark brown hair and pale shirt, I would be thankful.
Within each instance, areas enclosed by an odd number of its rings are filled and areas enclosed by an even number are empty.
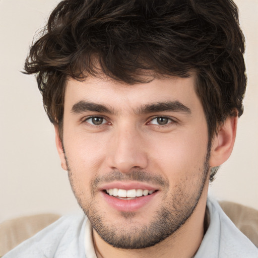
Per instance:
[[[243,112],[243,52],[229,0],[60,2],[25,71],[87,217],[5,257],[257,257],[207,197]]]

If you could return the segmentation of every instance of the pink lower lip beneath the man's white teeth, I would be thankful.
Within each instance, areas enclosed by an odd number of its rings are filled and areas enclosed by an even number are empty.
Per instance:
[[[118,199],[107,195],[105,192],[102,192],[102,195],[104,200],[115,210],[120,212],[135,212],[148,204],[157,193],[158,191],[155,191],[151,195],[138,197],[132,200]]]

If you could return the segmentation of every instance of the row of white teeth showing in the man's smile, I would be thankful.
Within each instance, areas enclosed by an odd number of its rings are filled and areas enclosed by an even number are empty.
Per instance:
[[[148,190],[148,189],[118,189],[118,188],[111,188],[106,189],[105,193],[109,196],[113,196],[115,198],[121,200],[133,200],[139,197],[152,195],[153,192],[157,190]]]

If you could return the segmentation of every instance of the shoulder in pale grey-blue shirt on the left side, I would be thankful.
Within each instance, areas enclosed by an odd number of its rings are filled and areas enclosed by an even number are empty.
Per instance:
[[[84,250],[84,227],[87,218],[83,215],[63,216],[44,228],[32,238],[8,252],[3,258],[80,257],[79,253],[67,256],[70,250]]]

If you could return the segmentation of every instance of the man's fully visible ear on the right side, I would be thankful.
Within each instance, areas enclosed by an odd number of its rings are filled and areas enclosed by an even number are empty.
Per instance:
[[[210,166],[224,163],[232,153],[236,138],[237,116],[228,116],[217,135],[213,138]]]

